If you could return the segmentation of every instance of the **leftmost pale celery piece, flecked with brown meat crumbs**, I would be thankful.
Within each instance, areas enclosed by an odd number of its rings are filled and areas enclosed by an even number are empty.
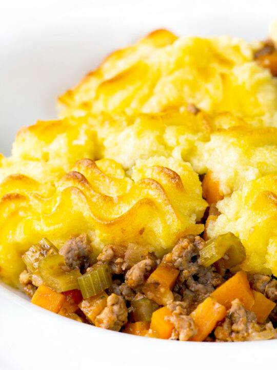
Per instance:
[[[43,238],[39,243],[34,244],[22,256],[23,262],[31,272],[38,268],[38,262],[48,254],[58,254],[57,248],[47,239]]]

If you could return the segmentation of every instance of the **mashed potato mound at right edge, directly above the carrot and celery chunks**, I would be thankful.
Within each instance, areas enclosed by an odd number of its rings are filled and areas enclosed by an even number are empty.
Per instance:
[[[208,236],[231,231],[246,249],[246,271],[277,275],[277,176],[245,183],[217,207],[221,215],[209,223]]]

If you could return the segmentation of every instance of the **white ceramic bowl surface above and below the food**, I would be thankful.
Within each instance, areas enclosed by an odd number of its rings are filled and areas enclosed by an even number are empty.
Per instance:
[[[5,3],[6,4],[6,3]],[[38,4],[41,4],[39,7]],[[147,32],[230,34],[263,39],[276,1],[0,0],[0,148],[19,127],[55,118],[57,95],[106,54]],[[277,341],[182,343],[77,323],[33,306],[0,285],[0,369],[275,368]]]

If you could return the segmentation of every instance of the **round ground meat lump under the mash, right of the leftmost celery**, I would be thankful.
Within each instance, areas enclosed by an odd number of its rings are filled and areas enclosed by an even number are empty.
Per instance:
[[[92,248],[87,234],[80,236],[70,236],[59,252],[65,257],[68,267],[73,270],[84,271],[90,263]]]

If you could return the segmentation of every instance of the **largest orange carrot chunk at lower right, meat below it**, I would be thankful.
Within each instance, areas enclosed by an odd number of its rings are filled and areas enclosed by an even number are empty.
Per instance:
[[[231,307],[232,301],[236,298],[238,298],[248,310],[250,310],[254,304],[253,293],[250,289],[245,271],[237,272],[231,279],[215,289],[215,291],[211,293],[211,297],[227,309]]]

